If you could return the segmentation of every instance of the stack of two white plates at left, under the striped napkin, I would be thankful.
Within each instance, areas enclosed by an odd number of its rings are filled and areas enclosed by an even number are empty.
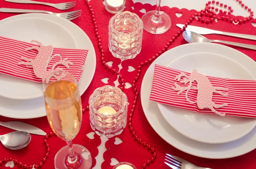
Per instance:
[[[93,78],[96,54],[89,37],[76,24],[49,14],[20,14],[0,20],[0,36],[60,48],[89,49],[82,67],[79,91],[82,95]],[[0,74],[0,115],[12,118],[46,116],[41,83]]]

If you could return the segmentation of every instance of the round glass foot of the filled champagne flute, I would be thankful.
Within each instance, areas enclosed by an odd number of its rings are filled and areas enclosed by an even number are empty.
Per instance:
[[[73,144],[73,149],[79,155],[79,160],[76,163],[81,163],[81,165],[76,165],[76,169],[90,169],[93,163],[90,152],[84,146],[78,144]],[[64,146],[57,152],[54,159],[55,169],[70,169],[65,165],[68,154],[68,146]]]

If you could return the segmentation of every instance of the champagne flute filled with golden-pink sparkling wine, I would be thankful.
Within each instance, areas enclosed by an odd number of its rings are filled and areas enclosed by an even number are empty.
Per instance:
[[[63,77],[57,80],[58,77]],[[53,72],[43,80],[47,118],[53,132],[67,146],[58,151],[54,159],[55,169],[90,169],[92,158],[84,147],[72,144],[81,127],[81,97],[76,78],[68,72]]]

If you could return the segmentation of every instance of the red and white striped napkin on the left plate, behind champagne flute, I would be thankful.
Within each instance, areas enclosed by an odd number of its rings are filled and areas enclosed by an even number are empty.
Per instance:
[[[38,51],[35,49],[25,51],[26,48],[38,46],[35,43],[27,43],[20,40],[10,39],[8,37],[0,36],[0,73],[8,74],[11,76],[23,78],[26,80],[31,80],[35,82],[42,82],[42,79],[35,76],[32,67],[26,67],[25,65],[18,65],[21,57],[26,57],[29,59],[35,59]],[[63,69],[65,72],[69,72],[77,81],[79,81],[82,74],[82,66],[85,63],[87,57],[87,49],[64,49],[64,48],[54,48],[52,56],[55,55],[48,63],[47,70],[51,69],[52,65],[62,59],[68,57],[68,61],[72,62],[69,68],[64,65],[56,66]],[[60,56],[61,57],[60,57]]]

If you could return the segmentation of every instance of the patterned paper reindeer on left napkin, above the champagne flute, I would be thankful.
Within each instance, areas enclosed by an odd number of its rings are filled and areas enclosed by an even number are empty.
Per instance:
[[[32,40],[32,43],[38,43],[40,46],[32,46],[30,48],[26,48],[25,51],[29,51],[32,49],[36,49],[38,50],[38,55],[35,57],[35,59],[29,59],[26,57],[21,57],[20,60],[26,60],[28,62],[19,62],[19,65],[26,65],[27,67],[32,67],[34,70],[34,73],[37,77],[41,78],[42,80],[44,80],[49,74],[52,74],[54,72],[58,72],[58,71],[63,71],[63,69],[57,67],[56,69],[55,66],[61,64],[66,66],[67,68],[69,68],[69,64],[73,65],[72,62],[67,61],[67,57],[65,59],[61,59],[60,61],[56,62],[54,65],[52,65],[52,69],[50,69],[49,71],[47,71],[47,67],[48,63],[50,62],[50,60],[55,57],[55,56],[60,56],[59,54],[55,54],[52,56],[52,52],[53,52],[53,46],[49,45],[49,46],[43,46],[43,44],[37,40]],[[61,78],[65,77],[65,74],[62,73],[60,76],[56,76],[53,75],[53,77],[55,77],[57,80],[60,80]]]

